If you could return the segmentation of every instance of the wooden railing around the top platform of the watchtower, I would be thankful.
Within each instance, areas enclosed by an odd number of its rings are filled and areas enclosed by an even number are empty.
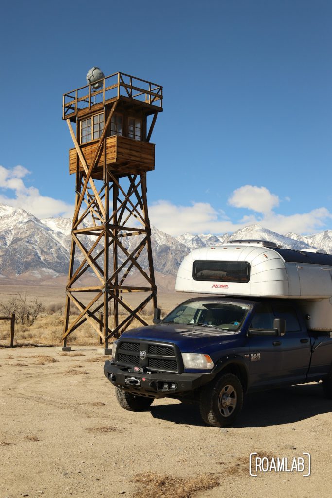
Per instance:
[[[63,95],[62,119],[73,118],[79,111],[91,110],[97,104],[105,105],[120,97],[139,100],[162,110],[163,87],[156,83],[125,73],[114,73],[98,82],[102,85],[98,90],[93,88],[95,82]]]

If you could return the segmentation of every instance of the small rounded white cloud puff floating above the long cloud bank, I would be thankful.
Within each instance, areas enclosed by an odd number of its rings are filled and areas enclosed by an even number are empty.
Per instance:
[[[228,204],[235,208],[247,208],[257,213],[269,213],[279,205],[279,198],[266,187],[243,185],[234,190],[228,199]]]

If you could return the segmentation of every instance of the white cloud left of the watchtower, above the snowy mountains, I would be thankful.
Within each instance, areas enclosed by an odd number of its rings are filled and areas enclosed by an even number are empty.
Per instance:
[[[24,166],[20,165],[12,169],[0,166],[0,203],[25,209],[37,218],[72,217],[74,206],[43,196],[35,187],[25,186],[23,178],[29,173]]]

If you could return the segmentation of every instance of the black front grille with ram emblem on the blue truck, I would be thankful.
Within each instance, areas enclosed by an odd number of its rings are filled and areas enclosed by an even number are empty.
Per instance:
[[[140,352],[145,353],[140,358]],[[149,341],[119,340],[116,363],[126,367],[146,367],[151,371],[179,373],[181,355],[176,346]],[[180,365],[180,367],[179,367]]]

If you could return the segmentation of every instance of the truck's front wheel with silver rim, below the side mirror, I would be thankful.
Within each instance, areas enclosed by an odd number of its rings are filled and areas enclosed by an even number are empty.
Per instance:
[[[214,427],[231,425],[241,411],[243,389],[232,373],[224,373],[203,387],[200,412],[204,422]]]

